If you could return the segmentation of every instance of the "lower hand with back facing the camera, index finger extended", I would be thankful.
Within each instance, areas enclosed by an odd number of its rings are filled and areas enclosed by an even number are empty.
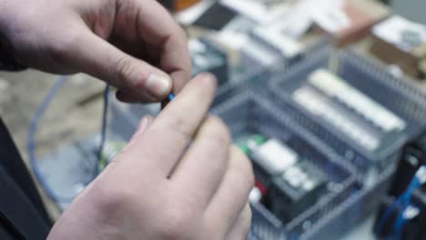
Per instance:
[[[245,239],[249,160],[206,116],[216,81],[198,75],[79,195],[48,239]]]

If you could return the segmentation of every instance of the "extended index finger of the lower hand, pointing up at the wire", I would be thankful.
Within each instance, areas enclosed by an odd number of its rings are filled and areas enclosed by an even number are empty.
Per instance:
[[[204,121],[216,85],[210,74],[190,81],[127,151],[138,156],[128,158],[133,167],[168,177]]]

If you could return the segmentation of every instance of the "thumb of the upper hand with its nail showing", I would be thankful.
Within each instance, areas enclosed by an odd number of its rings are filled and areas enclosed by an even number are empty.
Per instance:
[[[153,65],[127,55],[106,40],[86,31],[77,37],[67,57],[76,70],[96,76],[141,102],[160,101],[172,89],[169,75]]]

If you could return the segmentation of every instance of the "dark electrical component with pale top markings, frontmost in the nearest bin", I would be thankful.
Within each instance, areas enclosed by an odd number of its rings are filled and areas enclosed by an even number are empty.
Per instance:
[[[299,161],[275,176],[269,189],[269,208],[284,222],[314,205],[325,189],[327,177],[309,161]]]

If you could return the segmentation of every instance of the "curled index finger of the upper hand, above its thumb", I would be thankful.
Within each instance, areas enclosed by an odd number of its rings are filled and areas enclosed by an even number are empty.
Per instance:
[[[157,1],[149,1],[149,7],[145,1],[139,2],[137,32],[147,44],[160,49],[159,67],[173,79],[173,92],[177,94],[191,78],[187,36]]]

